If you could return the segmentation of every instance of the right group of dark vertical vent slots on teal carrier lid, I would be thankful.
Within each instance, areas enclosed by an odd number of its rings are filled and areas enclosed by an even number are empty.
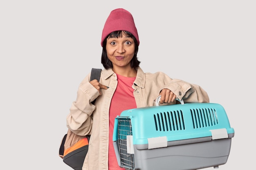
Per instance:
[[[219,123],[216,110],[213,108],[195,108],[190,111],[194,129],[215,126]]]

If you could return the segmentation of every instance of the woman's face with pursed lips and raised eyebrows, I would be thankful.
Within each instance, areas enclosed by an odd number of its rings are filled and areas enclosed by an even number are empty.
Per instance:
[[[108,38],[106,44],[108,59],[112,62],[113,68],[130,68],[130,61],[135,53],[135,42],[124,33],[119,38]]]

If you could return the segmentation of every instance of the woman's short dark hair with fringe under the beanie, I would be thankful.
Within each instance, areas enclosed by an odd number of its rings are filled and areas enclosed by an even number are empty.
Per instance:
[[[137,59],[137,53],[138,53],[138,50],[139,50],[139,46],[138,46],[138,42],[137,42],[136,38],[128,31],[114,31],[114,32],[110,33],[105,38],[105,40],[103,41],[103,48],[102,48],[102,54],[101,54],[101,64],[106,69],[113,68],[113,64],[108,59],[108,56],[107,56],[107,50],[106,50],[107,38],[109,38],[109,37],[119,38],[119,37],[122,36],[122,33],[125,33],[126,36],[131,37],[133,39],[133,41],[135,42],[135,53],[132,57],[132,60],[131,60],[130,64],[131,64],[132,68],[137,69],[139,67],[140,61]]]

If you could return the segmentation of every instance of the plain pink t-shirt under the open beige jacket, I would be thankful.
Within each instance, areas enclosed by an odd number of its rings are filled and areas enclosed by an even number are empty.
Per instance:
[[[117,75],[117,89],[112,97],[109,109],[109,151],[108,151],[108,169],[109,170],[124,170],[117,163],[117,157],[113,147],[113,129],[114,121],[117,115],[122,111],[137,108],[135,98],[133,96],[134,89],[132,84],[136,77],[124,77]]]

